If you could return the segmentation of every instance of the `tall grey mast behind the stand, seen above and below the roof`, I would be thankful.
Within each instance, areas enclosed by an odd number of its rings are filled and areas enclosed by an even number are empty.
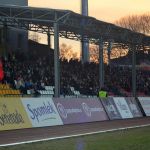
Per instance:
[[[88,16],[88,0],[81,0],[81,14]],[[89,43],[82,42],[82,62],[89,62]]]

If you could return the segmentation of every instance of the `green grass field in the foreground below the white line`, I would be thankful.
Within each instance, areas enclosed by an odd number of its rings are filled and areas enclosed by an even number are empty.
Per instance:
[[[0,148],[0,150],[149,150],[149,149],[150,149],[150,127]]]

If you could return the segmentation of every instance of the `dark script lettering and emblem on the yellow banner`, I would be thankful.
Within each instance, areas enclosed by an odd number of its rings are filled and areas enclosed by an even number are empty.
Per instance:
[[[0,125],[5,126],[7,124],[14,125],[24,123],[23,117],[17,110],[9,112],[6,104],[0,105],[0,109]]]

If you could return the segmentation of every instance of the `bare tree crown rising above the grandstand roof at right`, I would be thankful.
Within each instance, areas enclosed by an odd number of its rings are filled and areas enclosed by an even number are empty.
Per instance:
[[[146,35],[150,34],[150,13],[142,15],[132,15],[120,18],[115,22],[116,25],[140,32]]]

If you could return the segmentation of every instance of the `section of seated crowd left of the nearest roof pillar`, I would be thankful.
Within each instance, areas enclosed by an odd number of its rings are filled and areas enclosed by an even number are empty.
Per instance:
[[[53,71],[46,57],[37,58],[34,54],[11,53],[3,59],[3,82],[12,88],[27,94],[27,90],[37,93],[44,90],[45,85],[53,82]]]

